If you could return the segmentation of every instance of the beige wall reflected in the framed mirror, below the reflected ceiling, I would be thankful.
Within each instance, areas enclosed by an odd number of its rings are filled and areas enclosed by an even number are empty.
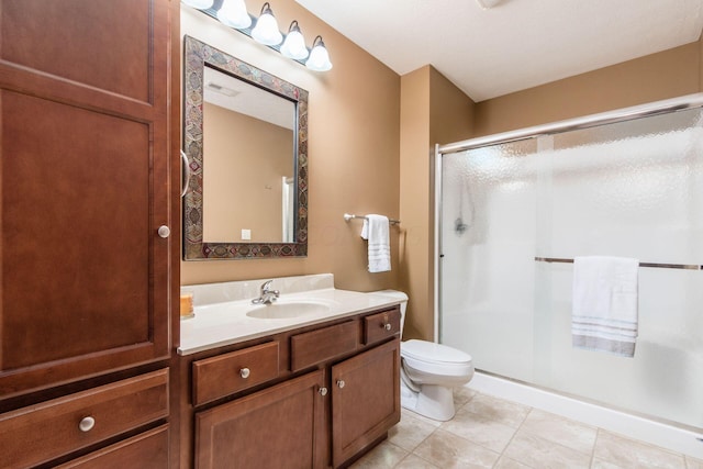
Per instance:
[[[252,242],[280,243],[293,132],[209,102],[203,121],[203,241],[242,242],[249,230]]]

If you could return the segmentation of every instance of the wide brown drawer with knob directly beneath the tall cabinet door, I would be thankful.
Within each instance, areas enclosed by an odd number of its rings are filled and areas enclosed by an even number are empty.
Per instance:
[[[166,369],[8,412],[0,467],[45,462],[166,416]]]

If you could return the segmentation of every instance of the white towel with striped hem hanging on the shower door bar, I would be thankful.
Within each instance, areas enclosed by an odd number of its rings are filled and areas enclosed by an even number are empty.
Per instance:
[[[571,336],[574,347],[635,355],[639,261],[590,256],[573,259]]]

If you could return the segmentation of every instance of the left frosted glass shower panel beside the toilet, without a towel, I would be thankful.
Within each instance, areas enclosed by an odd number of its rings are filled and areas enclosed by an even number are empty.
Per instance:
[[[442,342],[521,379],[532,369],[539,164],[534,139],[443,158]]]

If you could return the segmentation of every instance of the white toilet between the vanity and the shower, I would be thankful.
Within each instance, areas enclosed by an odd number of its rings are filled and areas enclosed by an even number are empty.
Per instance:
[[[408,295],[395,290],[373,291],[371,294],[401,300],[402,338]],[[402,342],[400,356],[401,405],[437,421],[454,417],[454,387],[466,384],[473,377],[471,356],[446,345],[416,339]]]

